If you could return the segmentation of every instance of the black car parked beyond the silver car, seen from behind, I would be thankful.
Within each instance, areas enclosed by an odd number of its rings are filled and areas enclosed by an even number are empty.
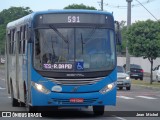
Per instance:
[[[126,65],[124,65],[124,68]],[[144,70],[140,65],[130,64],[130,78],[143,80]]]

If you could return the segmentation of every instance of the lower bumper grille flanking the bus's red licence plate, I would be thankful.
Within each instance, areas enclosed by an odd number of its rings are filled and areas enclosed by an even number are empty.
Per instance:
[[[92,104],[97,101],[97,98],[91,98],[91,99],[84,99],[82,103],[71,103],[69,99],[58,99],[58,98],[52,98],[52,101],[57,104]]]

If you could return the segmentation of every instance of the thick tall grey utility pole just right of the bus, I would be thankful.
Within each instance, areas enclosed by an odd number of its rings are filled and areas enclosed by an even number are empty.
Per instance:
[[[129,26],[131,25],[131,2],[133,0],[126,0],[128,2],[128,6],[127,6],[127,28],[129,28]],[[127,44],[126,44],[126,71],[130,71],[130,55],[128,52],[128,40],[127,40]]]

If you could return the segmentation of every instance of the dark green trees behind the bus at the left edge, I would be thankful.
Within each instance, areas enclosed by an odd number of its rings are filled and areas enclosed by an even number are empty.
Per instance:
[[[4,54],[4,41],[6,36],[6,25],[32,12],[29,7],[11,7],[0,12],[0,54]]]

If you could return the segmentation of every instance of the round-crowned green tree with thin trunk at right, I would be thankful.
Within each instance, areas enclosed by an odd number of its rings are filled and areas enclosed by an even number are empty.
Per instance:
[[[160,22],[138,21],[132,24],[126,34],[129,52],[148,58],[151,63],[150,84],[152,84],[153,60],[160,56]]]

